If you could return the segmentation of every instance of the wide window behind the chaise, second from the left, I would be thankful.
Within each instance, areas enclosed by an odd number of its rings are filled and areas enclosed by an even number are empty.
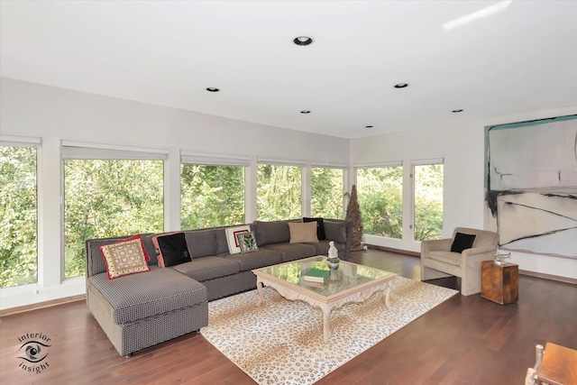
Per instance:
[[[89,238],[163,230],[163,160],[70,159],[82,152],[64,150],[66,278],[85,274]],[[95,151],[95,157],[114,156],[110,152]]]

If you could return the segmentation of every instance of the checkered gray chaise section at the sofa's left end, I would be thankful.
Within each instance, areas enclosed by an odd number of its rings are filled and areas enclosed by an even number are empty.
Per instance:
[[[108,279],[99,247],[124,238],[87,241],[87,306],[118,353],[132,355],[208,325],[206,287],[179,271],[151,265]]]

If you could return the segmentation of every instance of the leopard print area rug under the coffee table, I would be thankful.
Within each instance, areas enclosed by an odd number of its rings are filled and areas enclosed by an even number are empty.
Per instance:
[[[319,307],[271,288],[264,288],[261,307],[257,290],[209,303],[200,333],[260,385],[312,384],[458,293],[402,277],[390,286],[389,308],[377,292],[333,309],[328,344]]]

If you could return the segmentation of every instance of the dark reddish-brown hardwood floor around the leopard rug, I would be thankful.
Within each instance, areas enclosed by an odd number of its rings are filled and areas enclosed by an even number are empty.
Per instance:
[[[370,250],[353,252],[352,261],[420,279],[417,257]],[[19,337],[33,333],[50,337],[41,362],[48,366],[40,373],[26,371],[18,359]],[[517,304],[456,295],[317,384],[522,384],[535,362],[535,345],[545,342],[577,349],[577,287],[521,276]],[[254,382],[195,333],[121,357],[78,301],[0,318],[0,383]]]

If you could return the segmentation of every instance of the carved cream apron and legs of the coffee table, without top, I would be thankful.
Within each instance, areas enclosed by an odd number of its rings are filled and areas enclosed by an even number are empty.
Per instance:
[[[330,338],[330,330],[329,330],[329,325],[328,325],[328,321],[329,318],[331,317],[331,311],[333,311],[334,308],[337,307],[342,307],[344,304],[349,303],[349,302],[363,302],[364,300],[366,300],[367,298],[370,298],[375,292],[379,291],[379,290],[383,290],[386,289],[386,294],[385,294],[385,305],[387,306],[387,308],[390,307],[390,280],[384,281],[384,282],[380,282],[379,284],[370,286],[370,287],[366,287],[364,289],[361,290],[357,290],[354,291],[351,294],[348,294],[346,296],[343,296],[341,298],[335,298],[332,301],[320,301],[316,298],[312,298],[310,296],[307,296],[306,294],[303,294],[301,292],[298,292],[296,290],[290,289],[288,286],[282,285],[278,282],[272,281],[272,280],[267,280],[264,279],[262,277],[257,277],[256,279],[256,287],[257,289],[259,289],[259,300],[256,304],[257,307],[261,307],[262,305],[262,301],[263,301],[263,297],[262,297],[262,288],[263,286],[269,286],[270,288],[276,289],[279,294],[287,299],[290,300],[295,300],[295,299],[300,299],[303,300],[305,302],[307,302],[307,304],[313,306],[313,307],[320,307],[323,310],[323,335],[325,337],[325,344],[328,343],[329,338]]]

